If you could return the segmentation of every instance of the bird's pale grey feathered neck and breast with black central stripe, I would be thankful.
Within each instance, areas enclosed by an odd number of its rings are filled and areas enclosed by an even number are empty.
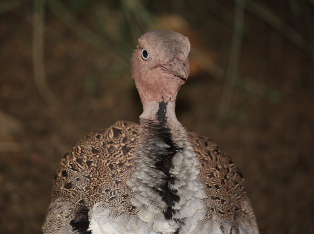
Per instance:
[[[131,173],[128,185],[134,197],[130,201],[138,217],[154,231],[191,230],[205,215],[198,160],[176,119],[174,102],[144,105]]]

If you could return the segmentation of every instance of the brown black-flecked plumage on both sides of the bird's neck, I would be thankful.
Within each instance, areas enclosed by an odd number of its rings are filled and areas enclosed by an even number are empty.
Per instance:
[[[69,226],[76,212],[98,202],[113,210],[112,218],[124,212],[136,217],[128,202],[126,179],[130,176],[138,131],[138,124],[118,121],[105,131],[88,134],[62,158],[54,177],[46,233],[57,233],[63,225]],[[200,162],[199,177],[207,194],[204,222],[212,218],[233,220],[236,226],[244,221],[243,226],[256,229],[239,169],[213,141],[190,130],[187,134]],[[70,184],[73,187],[69,188]],[[56,208],[56,203],[65,205]]]

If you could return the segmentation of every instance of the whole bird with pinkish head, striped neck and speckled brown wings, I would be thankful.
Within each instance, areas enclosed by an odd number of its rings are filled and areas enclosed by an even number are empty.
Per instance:
[[[143,113],[89,133],[61,159],[43,233],[259,233],[241,171],[175,113],[188,38],[152,30],[131,58]]]

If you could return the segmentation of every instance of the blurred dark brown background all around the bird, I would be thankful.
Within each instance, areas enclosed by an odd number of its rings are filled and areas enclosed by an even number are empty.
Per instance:
[[[138,38],[192,44],[177,117],[228,153],[260,232],[314,233],[314,1],[0,1],[0,233],[41,233],[60,158],[138,122]]]

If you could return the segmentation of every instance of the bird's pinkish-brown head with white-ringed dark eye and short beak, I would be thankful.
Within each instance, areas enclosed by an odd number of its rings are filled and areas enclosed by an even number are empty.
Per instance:
[[[190,48],[186,36],[170,30],[149,31],[138,39],[131,66],[143,104],[176,100],[189,76]]]

